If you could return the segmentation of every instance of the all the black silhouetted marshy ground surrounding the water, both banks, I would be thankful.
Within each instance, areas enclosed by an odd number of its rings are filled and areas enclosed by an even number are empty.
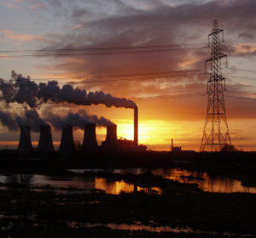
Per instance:
[[[0,153],[1,154],[1,153]],[[2,173],[65,174],[72,167],[185,167],[226,174],[255,185],[254,153],[128,156],[0,157]],[[83,176],[90,176],[84,173]],[[100,174],[99,174],[100,176]],[[104,175],[105,176],[105,175]],[[109,174],[108,179],[113,175]],[[256,237],[256,195],[204,193],[195,184],[159,177],[119,175],[140,186],[160,186],[161,195],[134,192],[108,195],[101,190],[56,193],[50,186],[2,184],[0,237]],[[105,176],[106,177],[106,176]],[[117,178],[114,178],[117,179]],[[116,224],[111,229],[109,224]],[[118,224],[143,225],[151,231],[118,229]],[[153,228],[179,228],[156,232]],[[187,228],[190,228],[189,230]]]

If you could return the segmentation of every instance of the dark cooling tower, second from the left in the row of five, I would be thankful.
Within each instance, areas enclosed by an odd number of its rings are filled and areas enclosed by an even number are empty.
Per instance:
[[[39,138],[39,142],[38,142],[38,151],[42,151],[42,152],[54,151],[54,146],[52,144],[52,137],[51,137],[49,125],[40,127],[40,138]]]

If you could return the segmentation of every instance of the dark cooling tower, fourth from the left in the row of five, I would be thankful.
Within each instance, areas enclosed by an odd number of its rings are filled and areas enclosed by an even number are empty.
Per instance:
[[[84,142],[82,150],[96,151],[98,144],[96,141],[96,124],[90,123],[84,125]]]

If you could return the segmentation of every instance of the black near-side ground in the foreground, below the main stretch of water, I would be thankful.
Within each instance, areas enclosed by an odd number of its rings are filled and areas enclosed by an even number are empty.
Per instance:
[[[256,235],[256,195],[169,190],[163,195],[0,191],[1,237],[240,237]],[[99,224],[86,227],[84,224]],[[100,226],[102,224],[102,226]],[[118,230],[104,224],[190,227],[194,233]],[[208,233],[214,231],[215,233]],[[10,235],[10,236],[9,236]]]

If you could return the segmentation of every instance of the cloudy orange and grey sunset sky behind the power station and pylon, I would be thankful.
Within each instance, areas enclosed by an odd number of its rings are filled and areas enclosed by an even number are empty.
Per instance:
[[[213,20],[224,29],[225,108],[232,144],[256,150],[256,1],[253,0],[1,0],[0,78],[11,71],[36,83],[56,80],[87,93],[102,91],[133,100],[139,144],[199,150],[207,113],[205,60]],[[209,69],[209,65],[207,67]],[[2,99],[2,98],[1,98]],[[2,101],[0,110],[24,113],[28,105]],[[67,115],[87,111],[133,139],[133,110],[105,105],[44,104]],[[55,144],[61,132],[53,131]],[[97,127],[98,143],[106,128]],[[19,131],[0,125],[0,145],[17,144]],[[83,131],[74,130],[82,141]],[[38,133],[32,132],[34,145]]]

